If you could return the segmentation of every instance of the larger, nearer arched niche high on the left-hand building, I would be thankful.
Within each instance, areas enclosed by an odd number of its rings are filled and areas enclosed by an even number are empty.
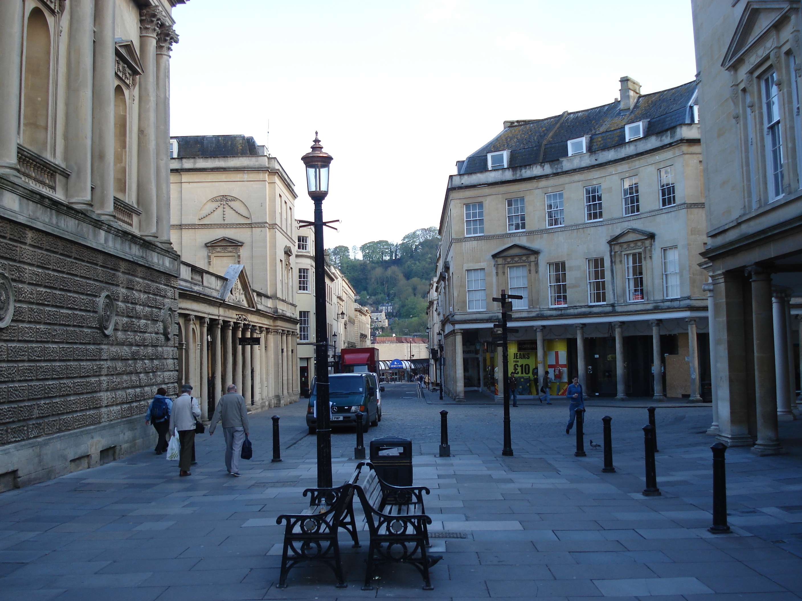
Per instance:
[[[47,154],[47,121],[50,105],[51,35],[47,18],[39,8],[28,15],[25,36],[25,91],[22,103],[22,144]]]

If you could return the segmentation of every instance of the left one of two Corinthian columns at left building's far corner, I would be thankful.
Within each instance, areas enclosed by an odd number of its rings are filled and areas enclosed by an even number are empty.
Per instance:
[[[140,10],[140,127],[136,155],[138,165],[137,193],[140,215],[140,234],[156,238],[156,34],[161,26],[161,10],[148,6]]]

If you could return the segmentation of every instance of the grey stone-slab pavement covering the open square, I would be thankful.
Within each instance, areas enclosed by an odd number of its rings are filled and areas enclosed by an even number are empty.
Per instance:
[[[658,486],[644,498],[646,409],[589,405],[586,458],[573,457],[565,401],[512,409],[516,457],[500,457],[500,405],[439,405],[415,385],[387,385],[371,438],[411,438],[415,483],[429,486],[444,560],[434,591],[407,566],[360,590],[362,550],[343,544],[349,587],[327,569],[296,568],[275,587],[282,526],[315,486],[315,438],[305,402],[282,417],[281,463],[270,462],[272,412],[252,416],[254,459],[242,478],[223,466],[222,437],[199,437],[192,477],[151,452],[0,495],[0,601],[4,599],[589,599],[784,601],[802,595],[802,422],[781,423],[789,453],[727,451],[734,533],[711,523],[709,407],[658,409]],[[603,401],[593,401],[600,403]],[[448,409],[452,458],[435,458],[439,410]],[[618,473],[602,474],[601,417],[613,417]],[[219,434],[219,433],[218,433]],[[354,468],[353,431],[333,435],[334,481]],[[244,469],[243,469],[244,468]],[[367,533],[366,533],[367,534]]]

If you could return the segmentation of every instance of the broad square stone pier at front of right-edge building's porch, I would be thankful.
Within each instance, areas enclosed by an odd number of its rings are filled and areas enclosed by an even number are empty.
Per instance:
[[[711,275],[715,305],[715,374],[719,397],[719,434],[727,446],[752,446],[746,393],[746,340],[741,273]]]

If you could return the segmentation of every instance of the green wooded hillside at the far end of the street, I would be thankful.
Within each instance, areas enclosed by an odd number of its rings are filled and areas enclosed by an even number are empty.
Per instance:
[[[359,248],[337,246],[328,252],[329,260],[348,278],[362,305],[378,311],[379,305],[392,303],[394,310],[387,316],[390,328],[384,333],[425,336],[426,296],[435,276],[439,244],[437,228],[420,228],[403,236],[399,244],[375,240]]]

